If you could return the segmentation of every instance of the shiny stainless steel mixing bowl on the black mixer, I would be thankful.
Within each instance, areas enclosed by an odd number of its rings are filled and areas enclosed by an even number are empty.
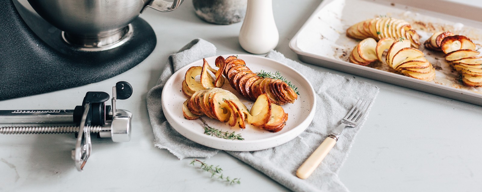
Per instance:
[[[133,34],[130,23],[147,7],[170,12],[183,0],[28,0],[39,15],[62,30],[62,38],[85,51],[118,47]]]

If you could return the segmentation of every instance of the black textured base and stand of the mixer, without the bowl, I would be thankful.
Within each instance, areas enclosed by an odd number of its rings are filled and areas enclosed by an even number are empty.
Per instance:
[[[132,38],[118,48],[99,52],[55,49],[32,32],[12,0],[0,2],[0,100],[108,79],[133,68],[156,47],[154,31],[137,18]]]

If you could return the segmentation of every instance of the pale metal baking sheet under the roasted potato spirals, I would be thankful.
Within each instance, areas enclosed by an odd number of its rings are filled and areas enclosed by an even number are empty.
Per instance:
[[[349,53],[359,40],[348,38],[346,29],[377,16],[411,23],[422,44],[434,32],[451,31],[468,36],[481,48],[482,9],[445,0],[324,0],[289,46],[307,63],[482,106],[482,87],[462,84],[443,53],[425,50],[423,45],[419,49],[436,69],[431,82],[406,77],[381,62],[370,67],[349,63]]]

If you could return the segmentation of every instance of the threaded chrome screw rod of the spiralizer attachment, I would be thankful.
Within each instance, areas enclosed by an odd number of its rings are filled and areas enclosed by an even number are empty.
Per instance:
[[[89,126],[91,133],[99,133],[102,126]],[[52,133],[76,133],[79,132],[79,126],[11,126],[0,127],[0,134],[52,134]]]

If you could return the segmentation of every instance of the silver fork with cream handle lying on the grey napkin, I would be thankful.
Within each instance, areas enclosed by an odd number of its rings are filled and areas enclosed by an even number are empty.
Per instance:
[[[366,111],[372,104],[371,101],[366,99],[358,99],[358,102],[353,108],[351,108],[348,115],[341,120],[341,124],[333,131],[328,137],[320,144],[320,146],[306,159],[306,161],[296,170],[296,176],[300,179],[308,178],[311,173],[320,165],[321,161],[335,146],[338,137],[345,127],[355,127],[360,124]]]

